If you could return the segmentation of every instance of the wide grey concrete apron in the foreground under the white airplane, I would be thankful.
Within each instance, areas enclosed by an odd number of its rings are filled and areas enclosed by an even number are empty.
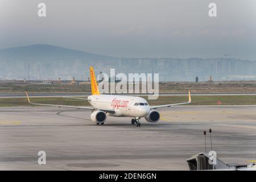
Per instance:
[[[187,170],[205,151],[204,130],[226,163],[256,158],[256,106],[176,106],[141,127],[130,118],[90,120],[90,111],[56,107],[0,108],[0,170]],[[207,151],[210,150],[209,133]],[[46,151],[46,165],[37,155]]]

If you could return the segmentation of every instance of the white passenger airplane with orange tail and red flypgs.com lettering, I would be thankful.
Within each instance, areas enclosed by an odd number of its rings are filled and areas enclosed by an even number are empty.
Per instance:
[[[167,104],[167,105],[159,105],[159,106],[150,106],[147,101],[141,97],[133,97],[133,96],[117,96],[117,95],[107,95],[100,94],[98,91],[98,85],[96,81],[96,77],[94,75],[93,67],[90,67],[90,78],[91,78],[91,88],[92,95],[88,98],[77,98],[77,97],[69,97],[76,98],[81,100],[88,100],[91,107],[84,106],[67,106],[67,105],[52,105],[52,104],[37,104],[32,103],[30,98],[27,95],[27,100],[30,104],[34,105],[43,105],[43,106],[57,106],[57,107],[72,107],[77,109],[89,109],[92,110],[92,114],[90,118],[93,122],[97,123],[97,125],[104,125],[106,121],[106,116],[113,117],[130,117],[131,124],[135,123],[137,126],[141,126],[139,119],[145,118],[148,122],[158,122],[160,119],[160,114],[155,109],[159,107],[170,107],[181,104],[189,104],[191,102],[190,92],[188,92],[188,102],[182,102],[177,104]]]

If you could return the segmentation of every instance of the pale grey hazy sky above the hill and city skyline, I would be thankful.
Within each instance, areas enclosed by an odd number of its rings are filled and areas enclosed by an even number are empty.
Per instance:
[[[208,16],[210,2],[217,17]],[[119,57],[256,60],[255,0],[0,0],[0,26],[0,49],[51,44]]]

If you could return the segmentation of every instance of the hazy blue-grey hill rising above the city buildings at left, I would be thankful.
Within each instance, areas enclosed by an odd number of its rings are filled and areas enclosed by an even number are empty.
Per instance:
[[[0,61],[23,60],[23,61],[114,61],[116,57],[96,55],[93,53],[51,46],[48,44],[35,44],[32,46],[6,48],[0,50]]]

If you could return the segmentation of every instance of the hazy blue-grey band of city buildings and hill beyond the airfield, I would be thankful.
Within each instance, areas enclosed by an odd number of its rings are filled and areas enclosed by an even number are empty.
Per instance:
[[[191,57],[148,58],[93,55],[46,44],[0,50],[0,79],[86,80],[90,65],[96,73],[159,73],[160,81],[255,80],[256,61],[235,59],[232,55],[202,59]],[[28,74],[29,72],[29,74]]]

